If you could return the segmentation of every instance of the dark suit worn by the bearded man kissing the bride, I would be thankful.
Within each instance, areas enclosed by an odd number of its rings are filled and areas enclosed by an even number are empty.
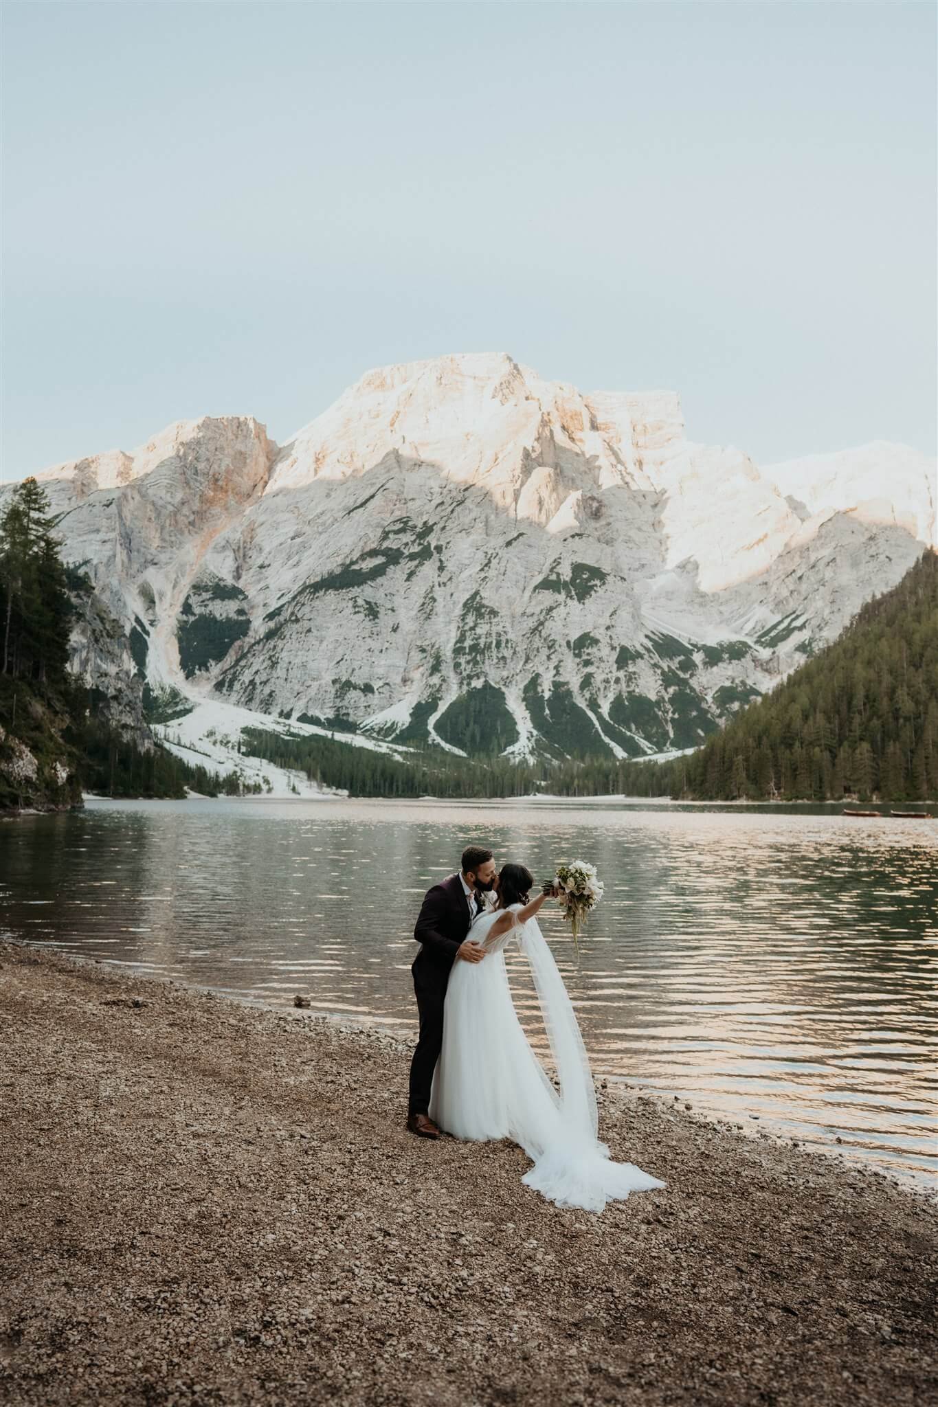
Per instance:
[[[475,909],[481,900],[475,898]],[[426,1114],[430,1106],[433,1071],[443,1045],[443,1002],[450,968],[468,934],[470,906],[458,874],[426,891],[413,937],[423,947],[413,958],[413,991],[420,1013],[420,1038],[411,1062],[411,1114]]]

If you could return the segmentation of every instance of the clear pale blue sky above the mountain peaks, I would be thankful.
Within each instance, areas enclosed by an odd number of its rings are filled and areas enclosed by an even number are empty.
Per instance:
[[[505,350],[935,443],[930,3],[3,6],[3,467]]]

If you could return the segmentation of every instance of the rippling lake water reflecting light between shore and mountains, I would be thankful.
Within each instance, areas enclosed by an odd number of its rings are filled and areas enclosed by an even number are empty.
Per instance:
[[[577,955],[593,1071],[934,1186],[938,820],[581,802],[90,802],[0,825],[0,931],[415,1030],[425,889],[467,843],[599,867]],[[522,1020],[543,1048],[523,960]],[[750,1124],[747,1127],[757,1127]]]

